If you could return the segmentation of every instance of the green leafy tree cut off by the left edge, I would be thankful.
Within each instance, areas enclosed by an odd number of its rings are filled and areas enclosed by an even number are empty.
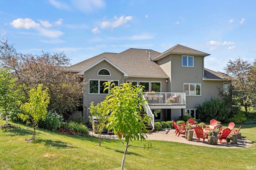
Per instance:
[[[6,115],[8,124],[8,115],[17,108],[18,92],[22,86],[16,86],[16,78],[12,78],[9,69],[0,68],[0,110]]]

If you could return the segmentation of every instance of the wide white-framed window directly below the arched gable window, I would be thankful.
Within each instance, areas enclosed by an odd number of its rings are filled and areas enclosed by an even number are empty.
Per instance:
[[[89,94],[108,94],[108,91],[104,92],[104,82],[108,80],[90,80],[89,81]],[[118,81],[113,81],[118,86]]]

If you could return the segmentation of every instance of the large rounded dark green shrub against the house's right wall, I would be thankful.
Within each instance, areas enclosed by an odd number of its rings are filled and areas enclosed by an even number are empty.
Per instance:
[[[225,102],[217,98],[205,100],[202,105],[198,104],[196,109],[200,120],[204,122],[210,122],[212,119],[225,122],[228,118],[228,108]]]

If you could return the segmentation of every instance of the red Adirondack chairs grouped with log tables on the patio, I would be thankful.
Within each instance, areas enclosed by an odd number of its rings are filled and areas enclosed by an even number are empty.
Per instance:
[[[235,124],[230,122],[227,128],[222,127],[220,122],[212,119],[209,125],[198,125],[195,124],[194,119],[189,119],[187,123],[176,123],[172,120],[173,125],[175,127],[175,135],[178,134],[185,136],[185,140],[192,141],[192,137],[195,137],[195,142],[200,141],[202,139],[202,143],[205,142],[205,139],[208,139],[207,144],[209,145],[218,145],[218,141],[220,145],[222,145],[222,141],[225,141],[225,144],[229,143],[237,144],[237,140],[241,139],[241,133],[239,133],[241,126],[238,130],[233,130]]]

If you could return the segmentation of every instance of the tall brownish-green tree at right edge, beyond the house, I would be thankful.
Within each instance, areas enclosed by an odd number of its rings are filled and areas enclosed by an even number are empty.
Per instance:
[[[229,60],[224,70],[229,76],[229,81],[232,82],[234,103],[243,106],[247,115],[247,108],[252,106],[253,94],[256,91],[255,74],[252,72],[254,70],[252,64],[238,58],[234,61]]]

